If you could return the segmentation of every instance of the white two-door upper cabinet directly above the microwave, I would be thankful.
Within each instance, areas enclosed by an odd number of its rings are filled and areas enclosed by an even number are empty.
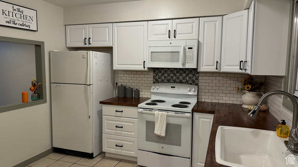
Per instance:
[[[198,39],[199,18],[148,21],[148,41]]]

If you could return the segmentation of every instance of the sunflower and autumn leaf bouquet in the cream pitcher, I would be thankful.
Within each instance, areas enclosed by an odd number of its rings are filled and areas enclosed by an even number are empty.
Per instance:
[[[264,86],[264,82],[254,81],[252,76],[248,78],[243,78],[241,81],[241,88],[236,87],[237,91],[249,91],[249,92],[260,92],[262,87]]]

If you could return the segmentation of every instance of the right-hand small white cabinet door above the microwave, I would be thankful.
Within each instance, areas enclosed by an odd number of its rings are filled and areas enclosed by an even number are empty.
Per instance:
[[[173,40],[198,39],[199,18],[173,20]]]

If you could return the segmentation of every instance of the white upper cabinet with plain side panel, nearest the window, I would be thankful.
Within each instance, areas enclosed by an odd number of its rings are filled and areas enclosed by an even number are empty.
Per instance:
[[[249,24],[253,25],[248,27],[247,45],[247,57],[252,57],[251,75],[285,75],[287,55],[291,51],[288,47],[290,4],[287,0],[252,1]]]

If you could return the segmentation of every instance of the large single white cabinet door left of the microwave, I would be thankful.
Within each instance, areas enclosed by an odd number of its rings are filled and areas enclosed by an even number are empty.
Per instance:
[[[147,21],[113,23],[114,70],[147,70]]]

